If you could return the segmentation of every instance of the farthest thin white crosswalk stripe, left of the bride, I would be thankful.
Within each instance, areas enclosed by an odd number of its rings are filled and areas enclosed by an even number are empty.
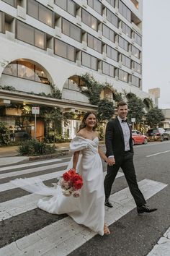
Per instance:
[[[6,167],[1,167],[0,171],[6,171],[6,170],[14,170],[17,168],[24,168],[28,166],[38,166],[44,163],[53,163],[53,162],[59,162],[59,161],[66,161],[66,159],[69,158],[60,158],[60,159],[50,159],[50,160],[45,160],[45,161],[37,161],[34,163],[23,163],[23,164],[17,164],[16,166],[6,166]]]

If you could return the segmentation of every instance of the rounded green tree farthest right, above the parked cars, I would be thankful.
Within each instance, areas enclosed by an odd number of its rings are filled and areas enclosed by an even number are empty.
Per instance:
[[[161,124],[161,121],[165,120],[165,116],[161,109],[158,109],[157,107],[151,108],[148,113],[146,114],[146,122],[147,124],[154,128]]]

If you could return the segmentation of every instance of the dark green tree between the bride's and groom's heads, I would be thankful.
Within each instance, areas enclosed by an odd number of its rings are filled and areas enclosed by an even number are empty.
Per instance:
[[[97,108],[97,119],[99,122],[108,121],[112,118],[112,115],[115,113],[115,108],[112,102],[109,102],[107,99],[99,101]]]

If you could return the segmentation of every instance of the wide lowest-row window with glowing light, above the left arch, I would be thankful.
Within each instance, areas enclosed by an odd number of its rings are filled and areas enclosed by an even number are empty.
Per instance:
[[[17,21],[17,39],[45,49],[45,33],[19,20]]]

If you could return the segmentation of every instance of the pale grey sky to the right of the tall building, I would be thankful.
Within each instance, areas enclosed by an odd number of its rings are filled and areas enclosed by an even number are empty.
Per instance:
[[[158,108],[170,108],[170,0],[143,0],[143,90],[160,88]]]

